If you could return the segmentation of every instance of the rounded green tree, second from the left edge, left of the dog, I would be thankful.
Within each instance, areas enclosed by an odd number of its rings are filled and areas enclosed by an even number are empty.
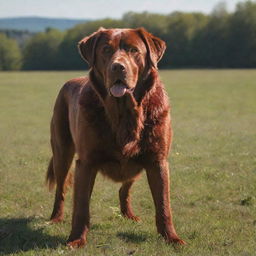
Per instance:
[[[23,69],[58,69],[58,48],[63,36],[63,32],[50,28],[33,36],[24,48]]]

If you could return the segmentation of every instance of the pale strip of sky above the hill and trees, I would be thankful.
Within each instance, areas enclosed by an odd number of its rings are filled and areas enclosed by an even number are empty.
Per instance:
[[[226,0],[233,11],[238,2]],[[77,19],[121,18],[128,11],[167,14],[173,11],[210,13],[220,0],[0,0],[0,18],[40,16]]]

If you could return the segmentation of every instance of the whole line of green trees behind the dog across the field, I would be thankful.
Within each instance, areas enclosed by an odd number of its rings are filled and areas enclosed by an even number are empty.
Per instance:
[[[159,36],[167,44],[160,68],[256,67],[256,2],[246,1],[232,13],[224,2],[208,15],[128,12],[122,19],[87,22],[65,32],[49,28],[31,36],[25,45],[0,33],[0,70],[84,69],[77,42],[101,26],[144,27]]]

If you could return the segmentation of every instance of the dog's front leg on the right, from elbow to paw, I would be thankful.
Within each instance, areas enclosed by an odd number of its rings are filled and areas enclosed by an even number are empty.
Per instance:
[[[185,244],[176,234],[172,221],[168,162],[155,162],[146,171],[156,209],[157,231],[168,243]]]

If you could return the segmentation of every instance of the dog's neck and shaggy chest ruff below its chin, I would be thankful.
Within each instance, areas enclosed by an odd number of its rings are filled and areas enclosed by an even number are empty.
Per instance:
[[[150,94],[158,80],[154,70],[148,74],[144,81],[136,86],[134,93],[126,93],[116,98],[107,93],[106,87],[96,79],[91,70],[90,80],[93,89],[100,98],[116,142],[125,157],[132,157],[140,152],[141,133],[144,128],[145,112],[143,100]],[[148,99],[148,96],[145,97]]]

